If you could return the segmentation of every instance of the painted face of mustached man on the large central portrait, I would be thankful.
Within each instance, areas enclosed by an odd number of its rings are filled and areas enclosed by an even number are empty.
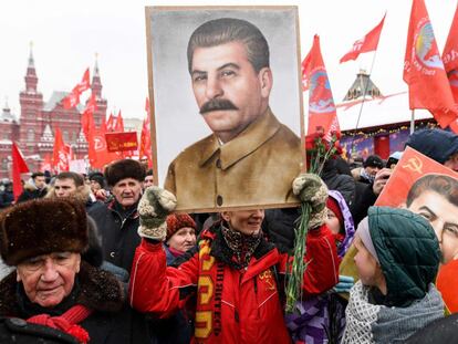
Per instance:
[[[262,115],[269,103],[272,74],[257,73],[241,42],[197,48],[192,55],[194,95],[204,119],[228,142]]]

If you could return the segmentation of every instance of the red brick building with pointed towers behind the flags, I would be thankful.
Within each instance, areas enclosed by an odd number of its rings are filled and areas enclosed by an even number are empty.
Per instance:
[[[39,91],[39,77],[33,54],[30,52],[24,77],[24,90],[20,92],[20,115],[17,119],[8,104],[0,113],[0,178],[11,177],[11,145],[15,142],[30,171],[42,170],[51,163],[54,132],[60,128],[65,144],[71,145],[74,158],[83,159],[87,155],[87,142],[81,131],[81,113],[84,104],[66,110],[62,105],[67,92],[54,91],[48,102]],[[98,127],[106,117],[107,102],[102,97],[102,82],[97,62],[93,70],[92,93],[95,94],[97,110],[94,122]]]

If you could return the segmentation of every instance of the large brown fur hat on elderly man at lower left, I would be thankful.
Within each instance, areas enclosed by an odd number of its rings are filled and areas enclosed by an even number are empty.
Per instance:
[[[51,252],[82,252],[87,247],[83,204],[71,199],[37,199],[0,213],[0,251],[8,265]]]

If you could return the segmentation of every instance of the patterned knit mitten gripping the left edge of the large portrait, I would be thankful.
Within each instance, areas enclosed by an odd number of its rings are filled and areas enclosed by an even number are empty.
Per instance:
[[[138,234],[164,241],[167,236],[167,216],[175,209],[175,195],[156,186],[146,188],[138,202]]]

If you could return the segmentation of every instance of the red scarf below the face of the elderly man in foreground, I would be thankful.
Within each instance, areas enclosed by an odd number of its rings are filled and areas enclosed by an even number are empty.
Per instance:
[[[89,333],[86,330],[77,325],[77,323],[85,320],[87,316],[91,315],[91,313],[92,310],[85,307],[84,305],[76,304],[72,306],[69,311],[63,313],[61,316],[39,314],[29,317],[27,321],[29,323],[60,330],[74,336],[80,343],[86,344],[90,340]]]

